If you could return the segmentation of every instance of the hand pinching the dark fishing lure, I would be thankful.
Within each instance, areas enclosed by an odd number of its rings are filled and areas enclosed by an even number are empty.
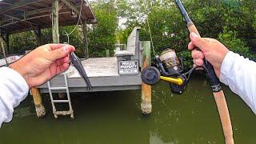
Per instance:
[[[40,86],[54,76],[68,70],[70,52],[74,46],[66,44],[47,44],[26,54],[23,58],[10,64],[25,78],[28,86]]]

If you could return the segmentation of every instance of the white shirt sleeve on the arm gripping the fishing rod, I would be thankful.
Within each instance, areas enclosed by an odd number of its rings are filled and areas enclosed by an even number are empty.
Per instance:
[[[220,81],[230,86],[256,114],[256,62],[230,51],[222,62]]]

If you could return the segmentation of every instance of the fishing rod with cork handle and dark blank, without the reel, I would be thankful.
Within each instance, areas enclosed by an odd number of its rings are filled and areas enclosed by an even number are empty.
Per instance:
[[[189,15],[186,12],[186,9],[182,5],[182,2],[180,0],[176,0],[175,2],[176,2],[176,5],[178,6],[178,9],[181,11],[183,18],[186,21],[187,29],[190,31],[190,33],[195,33],[199,37],[201,37],[197,27],[191,21]],[[222,129],[225,136],[226,144],[234,144],[230,114],[226,104],[225,95],[222,91],[222,86],[220,86],[218,77],[214,72],[214,67],[210,64],[210,62],[207,62],[205,58],[204,58],[204,67],[206,68],[206,78],[210,83],[211,89],[214,94],[215,102],[218,107],[218,113],[221,118]]]

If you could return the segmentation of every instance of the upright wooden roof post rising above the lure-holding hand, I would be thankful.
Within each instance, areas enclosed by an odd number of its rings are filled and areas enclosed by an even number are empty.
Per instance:
[[[53,10],[52,10],[52,34],[53,42],[59,42],[59,33],[58,33],[58,0],[53,0]]]

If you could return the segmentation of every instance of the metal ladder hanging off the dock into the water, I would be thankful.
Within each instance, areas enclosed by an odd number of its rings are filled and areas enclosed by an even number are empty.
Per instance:
[[[67,82],[67,74],[66,73],[64,73],[64,82],[65,82],[64,87],[52,87],[50,85],[50,81],[47,82],[48,90],[49,90],[49,94],[50,94],[50,101],[51,101],[51,105],[53,107],[54,118],[58,118],[58,115],[70,115],[70,118],[74,119],[74,111],[73,111],[72,106],[71,106],[70,90],[69,90],[69,86],[68,86],[68,82]],[[54,100],[52,90],[66,90],[67,99]],[[68,110],[68,111],[66,111],[66,110],[57,111],[54,103],[69,103],[70,110]]]

